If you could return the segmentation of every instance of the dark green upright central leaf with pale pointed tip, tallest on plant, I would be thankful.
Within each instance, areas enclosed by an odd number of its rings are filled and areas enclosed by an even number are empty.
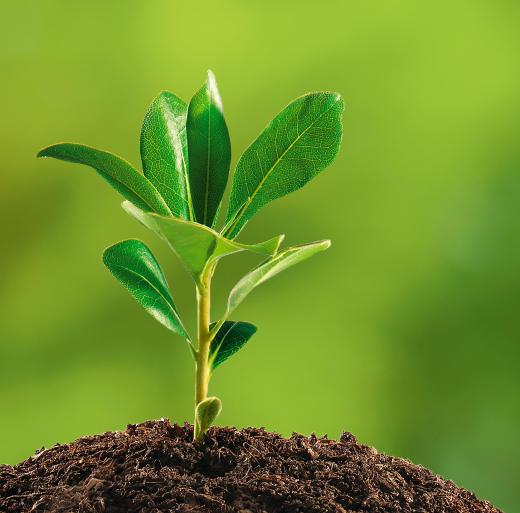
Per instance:
[[[229,175],[231,144],[217,81],[211,71],[190,101],[186,132],[195,220],[213,227]]]

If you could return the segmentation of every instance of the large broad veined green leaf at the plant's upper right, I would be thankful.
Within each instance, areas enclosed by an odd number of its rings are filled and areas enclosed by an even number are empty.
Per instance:
[[[341,143],[344,105],[337,93],[310,93],[282,110],[238,161],[223,233],[234,238],[270,201],[323,171]]]

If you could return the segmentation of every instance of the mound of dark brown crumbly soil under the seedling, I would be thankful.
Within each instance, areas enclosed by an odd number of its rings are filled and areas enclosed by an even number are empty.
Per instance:
[[[168,421],[81,438],[0,466],[2,513],[488,513],[425,468],[340,441]]]

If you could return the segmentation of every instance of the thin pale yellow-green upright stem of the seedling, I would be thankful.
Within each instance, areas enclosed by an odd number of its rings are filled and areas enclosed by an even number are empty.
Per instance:
[[[209,366],[209,349],[211,346],[211,278],[213,269],[206,269],[197,285],[197,374],[195,378],[195,407],[208,396],[208,385],[211,375]],[[202,435],[203,433],[201,433]]]

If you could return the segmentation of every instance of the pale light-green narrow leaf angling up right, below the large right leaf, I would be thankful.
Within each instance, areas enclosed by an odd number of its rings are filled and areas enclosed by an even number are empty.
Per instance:
[[[269,280],[278,273],[296,265],[307,258],[325,251],[330,247],[330,241],[324,240],[293,246],[281,251],[274,257],[266,260],[258,267],[246,274],[231,290],[228,298],[226,317],[246,298],[246,296],[258,285]]]

